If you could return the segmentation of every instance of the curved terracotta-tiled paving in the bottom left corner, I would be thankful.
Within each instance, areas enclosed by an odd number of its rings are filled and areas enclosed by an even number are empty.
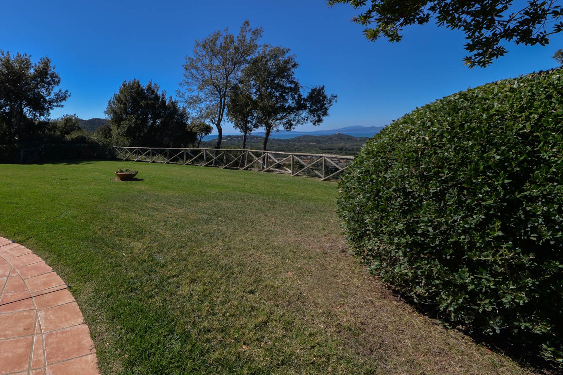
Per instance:
[[[99,375],[88,326],[62,279],[0,237],[0,374]]]

